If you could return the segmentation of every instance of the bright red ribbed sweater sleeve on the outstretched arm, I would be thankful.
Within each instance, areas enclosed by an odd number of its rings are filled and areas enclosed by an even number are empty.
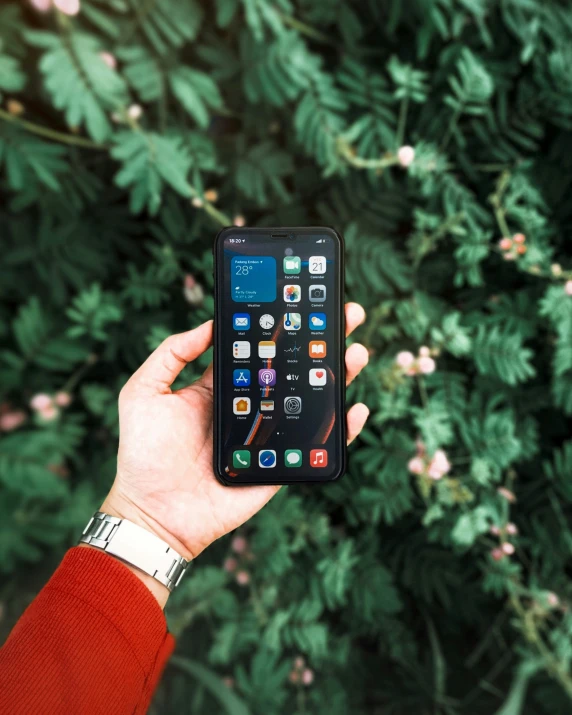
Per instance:
[[[173,647],[137,576],[70,549],[0,649],[0,713],[145,713]]]

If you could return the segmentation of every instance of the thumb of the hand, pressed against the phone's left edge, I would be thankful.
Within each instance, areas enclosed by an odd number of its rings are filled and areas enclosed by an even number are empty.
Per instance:
[[[169,392],[185,365],[196,360],[210,347],[212,336],[212,320],[186,333],[170,335],[149,355],[127,384],[136,387],[138,391]]]

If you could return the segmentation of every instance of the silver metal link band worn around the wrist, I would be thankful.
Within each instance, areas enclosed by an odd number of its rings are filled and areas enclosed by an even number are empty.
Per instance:
[[[96,511],[91,517],[80,542],[135,566],[169,591],[179,585],[189,565],[189,561],[150,531],[102,511]]]

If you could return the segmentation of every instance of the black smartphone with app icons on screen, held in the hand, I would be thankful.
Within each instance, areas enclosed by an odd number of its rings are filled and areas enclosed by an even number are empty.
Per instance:
[[[346,465],[344,246],[333,228],[225,228],[214,246],[214,471],[331,482]]]

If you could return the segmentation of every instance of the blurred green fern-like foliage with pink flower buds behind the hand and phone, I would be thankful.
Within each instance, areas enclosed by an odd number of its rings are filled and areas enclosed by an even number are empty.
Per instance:
[[[327,223],[370,421],[197,560],[154,711],[570,712],[571,37],[558,0],[2,3],[3,636],[220,226]]]

